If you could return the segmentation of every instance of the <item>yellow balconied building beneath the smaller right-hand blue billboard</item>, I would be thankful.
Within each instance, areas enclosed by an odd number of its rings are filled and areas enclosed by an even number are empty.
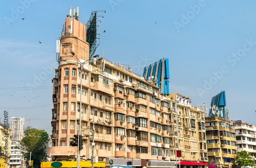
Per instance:
[[[237,142],[234,125],[218,116],[205,117],[209,167],[231,167],[236,158]],[[228,159],[230,158],[230,162]]]

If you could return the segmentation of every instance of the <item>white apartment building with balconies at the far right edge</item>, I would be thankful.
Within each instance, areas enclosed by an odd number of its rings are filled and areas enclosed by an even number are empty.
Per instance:
[[[234,121],[233,124],[236,131],[238,152],[249,152],[252,159],[256,160],[256,127],[248,123],[242,123],[241,120]]]

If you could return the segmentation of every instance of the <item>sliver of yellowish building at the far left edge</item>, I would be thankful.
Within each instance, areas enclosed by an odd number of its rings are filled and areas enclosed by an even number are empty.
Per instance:
[[[12,135],[10,134],[11,129],[8,128],[8,132],[5,132],[6,131],[5,128],[6,127],[4,124],[0,124],[0,148],[1,148],[1,150],[0,150],[0,168],[2,168],[2,167],[9,168],[10,167],[9,155],[11,153]],[[7,148],[7,150],[6,150],[6,148]]]

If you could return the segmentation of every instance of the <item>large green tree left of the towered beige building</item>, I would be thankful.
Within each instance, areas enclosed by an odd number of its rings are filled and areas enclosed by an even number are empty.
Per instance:
[[[40,167],[41,162],[47,161],[47,148],[50,141],[49,135],[45,130],[29,129],[24,131],[25,137],[20,141],[20,145],[25,149],[24,157],[31,160],[33,167]]]

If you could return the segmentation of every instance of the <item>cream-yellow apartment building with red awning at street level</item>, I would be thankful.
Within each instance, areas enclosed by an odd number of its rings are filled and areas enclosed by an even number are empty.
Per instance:
[[[175,160],[175,151],[181,150],[181,167],[198,165],[198,160],[200,167],[205,167],[208,161],[205,111],[202,107],[191,106],[191,99],[182,94],[171,93],[168,98],[170,98],[169,125],[172,127],[170,132],[172,160]]]

